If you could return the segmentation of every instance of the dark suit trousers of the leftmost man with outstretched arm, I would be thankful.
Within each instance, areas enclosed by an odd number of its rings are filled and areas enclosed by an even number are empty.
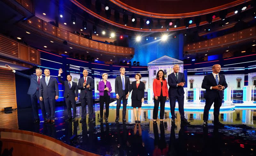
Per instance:
[[[44,106],[44,102],[39,100],[39,91],[36,90],[36,93],[34,95],[30,95],[30,99],[32,103],[34,120],[39,119],[37,101],[39,101],[39,105],[42,111],[42,116],[43,116],[43,119],[45,119],[46,118],[45,106]]]

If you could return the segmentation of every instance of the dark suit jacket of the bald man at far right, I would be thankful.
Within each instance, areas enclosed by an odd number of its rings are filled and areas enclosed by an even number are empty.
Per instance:
[[[221,75],[221,74],[219,74],[219,76],[220,76],[219,84],[221,86],[224,86],[225,89],[226,89],[228,87],[228,84],[226,82],[225,76]],[[203,83],[202,83],[202,88],[206,89],[205,94],[204,94],[205,99],[206,98],[215,99],[216,98],[216,92],[219,93],[220,99],[223,99],[223,90],[210,89],[213,86],[217,86],[217,83],[216,83],[216,80],[215,80],[215,77],[213,76],[213,74],[211,73],[209,75],[205,75]]]

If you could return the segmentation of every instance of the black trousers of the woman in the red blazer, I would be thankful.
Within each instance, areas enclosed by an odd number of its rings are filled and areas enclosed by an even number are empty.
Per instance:
[[[160,119],[164,119],[164,106],[165,106],[166,96],[158,96],[156,100],[154,98],[154,110],[153,110],[153,119],[157,119],[158,107],[160,102]]]

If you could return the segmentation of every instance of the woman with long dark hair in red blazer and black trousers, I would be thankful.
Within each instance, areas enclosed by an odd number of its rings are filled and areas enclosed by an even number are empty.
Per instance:
[[[156,74],[156,79],[153,81],[153,92],[154,92],[154,110],[153,120],[156,124],[158,107],[160,102],[160,122],[164,119],[164,105],[168,97],[167,81],[164,78],[164,71],[159,70]]]

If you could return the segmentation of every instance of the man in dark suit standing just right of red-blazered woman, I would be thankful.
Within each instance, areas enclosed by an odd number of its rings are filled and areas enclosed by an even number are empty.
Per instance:
[[[188,120],[184,116],[184,84],[186,82],[183,73],[180,73],[180,66],[173,66],[173,73],[168,75],[169,85],[169,97],[170,97],[170,108],[172,114],[172,123],[175,123],[175,104],[176,99],[179,104],[180,119],[182,123],[189,124]]]

